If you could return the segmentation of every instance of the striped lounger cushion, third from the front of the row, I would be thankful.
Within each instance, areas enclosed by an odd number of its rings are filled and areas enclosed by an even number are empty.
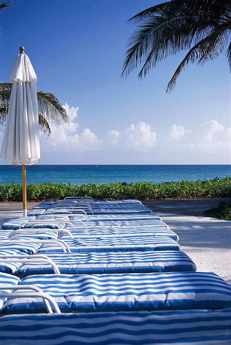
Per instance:
[[[195,271],[196,266],[183,252],[163,250],[157,252],[122,253],[46,253],[59,267],[61,274],[150,273]],[[36,258],[36,254],[31,256]],[[20,278],[34,274],[52,274],[50,264],[28,263],[17,268]]]

